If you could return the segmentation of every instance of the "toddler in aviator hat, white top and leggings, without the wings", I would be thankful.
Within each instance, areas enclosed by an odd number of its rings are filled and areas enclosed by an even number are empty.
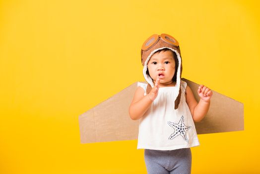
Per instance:
[[[139,119],[137,149],[144,149],[148,174],[191,174],[191,147],[199,145],[195,122],[206,115],[212,91],[200,85],[199,102],[181,80],[178,41],[168,35],[150,36],[141,49],[143,75],[129,107]]]

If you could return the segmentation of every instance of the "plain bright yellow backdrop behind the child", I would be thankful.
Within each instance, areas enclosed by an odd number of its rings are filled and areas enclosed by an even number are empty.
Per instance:
[[[80,144],[78,116],[144,81],[140,48],[154,33],[179,41],[184,78],[244,103],[244,131],[198,135],[192,174],[260,173],[259,7],[1,0],[0,173],[145,174],[137,140]]]

